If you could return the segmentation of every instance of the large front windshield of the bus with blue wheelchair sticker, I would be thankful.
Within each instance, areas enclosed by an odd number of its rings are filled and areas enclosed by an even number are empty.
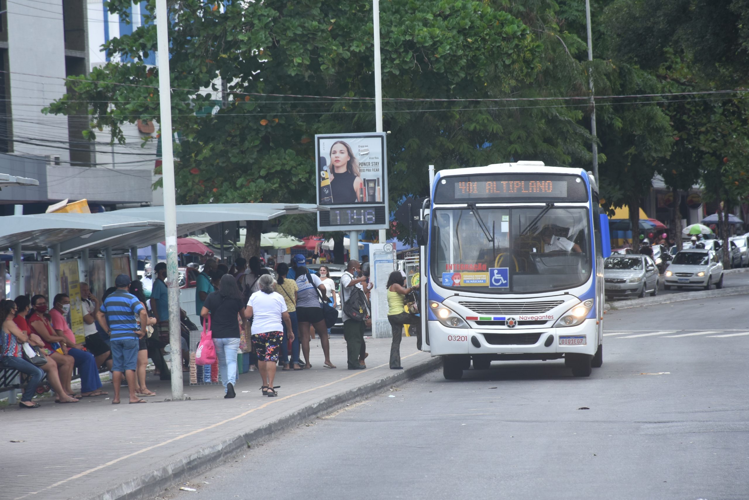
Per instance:
[[[471,292],[532,293],[580,286],[591,272],[583,207],[436,208],[432,278]]]

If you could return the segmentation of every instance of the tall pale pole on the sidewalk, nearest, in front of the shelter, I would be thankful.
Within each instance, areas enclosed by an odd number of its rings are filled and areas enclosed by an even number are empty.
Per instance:
[[[169,83],[169,14],[166,0],[156,0],[156,35],[159,58],[159,101],[164,186],[164,236],[166,239],[166,281],[169,289],[169,346],[172,358],[172,400],[183,398],[182,339],[180,335],[180,290],[177,263],[177,202],[175,199],[175,157],[172,148],[172,91]]]

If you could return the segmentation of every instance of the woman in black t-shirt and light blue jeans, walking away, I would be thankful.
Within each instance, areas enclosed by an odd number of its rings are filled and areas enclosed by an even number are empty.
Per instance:
[[[219,376],[224,385],[224,399],[236,396],[234,385],[237,385],[237,350],[239,349],[239,322],[237,313],[245,317],[244,301],[237,286],[237,280],[231,274],[224,274],[219,283],[218,292],[208,294],[200,311],[200,316],[209,319],[219,360]]]

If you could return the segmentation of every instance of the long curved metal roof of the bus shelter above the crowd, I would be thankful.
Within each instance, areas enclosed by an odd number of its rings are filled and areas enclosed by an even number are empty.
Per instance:
[[[177,205],[178,234],[220,222],[273,220],[286,214],[314,214],[326,208],[314,204],[216,203]],[[2,217],[0,247],[21,243],[28,250],[60,244],[60,253],[112,247],[127,250],[164,239],[163,207],[125,208],[103,214],[36,214]]]

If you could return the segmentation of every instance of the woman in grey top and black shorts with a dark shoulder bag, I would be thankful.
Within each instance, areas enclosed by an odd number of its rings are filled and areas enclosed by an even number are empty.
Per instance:
[[[330,339],[327,336],[327,325],[325,325],[323,304],[321,303],[321,301],[327,300],[327,289],[316,274],[309,274],[304,265],[297,267],[297,287],[299,288],[297,293],[297,320],[299,321],[299,333],[302,335],[302,352],[306,367],[312,368],[312,364],[309,363],[309,327],[312,326],[320,336],[320,344],[325,355],[323,366],[336,368],[336,365],[330,361]]]

